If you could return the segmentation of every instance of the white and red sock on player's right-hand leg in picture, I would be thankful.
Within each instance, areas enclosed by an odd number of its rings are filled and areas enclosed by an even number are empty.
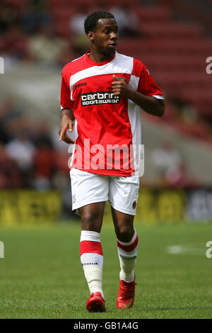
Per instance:
[[[130,242],[121,242],[117,239],[117,249],[121,267],[119,278],[122,281],[128,283],[134,281],[134,267],[136,265],[138,244],[139,239],[135,229]]]

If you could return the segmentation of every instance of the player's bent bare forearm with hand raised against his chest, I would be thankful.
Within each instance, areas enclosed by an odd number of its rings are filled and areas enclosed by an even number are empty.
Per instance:
[[[131,99],[131,101],[136,103],[138,106],[140,106],[140,108],[151,115],[158,115],[158,117],[162,117],[163,113],[165,112],[163,99],[143,95],[139,93],[139,91],[131,89],[129,85],[126,84],[123,79],[119,79],[119,77],[114,76],[112,89],[114,96]]]

